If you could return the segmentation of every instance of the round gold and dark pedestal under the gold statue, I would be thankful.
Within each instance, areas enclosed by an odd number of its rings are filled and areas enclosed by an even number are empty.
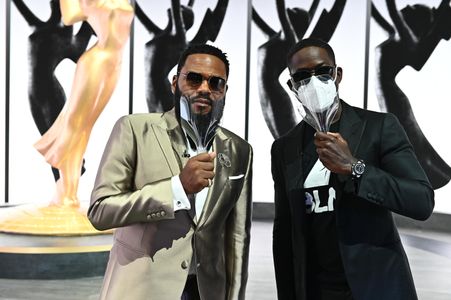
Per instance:
[[[112,243],[112,231],[95,230],[83,210],[0,208],[0,278],[102,276]]]

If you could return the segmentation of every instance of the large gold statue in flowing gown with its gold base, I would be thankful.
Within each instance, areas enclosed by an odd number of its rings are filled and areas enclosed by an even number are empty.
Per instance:
[[[77,197],[83,155],[91,130],[108,103],[134,16],[127,0],[60,0],[63,23],[87,21],[97,43],[78,60],[70,97],[51,128],[35,144],[60,172],[49,206],[14,207],[0,231],[38,235],[98,234]],[[12,208],[10,208],[12,209]]]

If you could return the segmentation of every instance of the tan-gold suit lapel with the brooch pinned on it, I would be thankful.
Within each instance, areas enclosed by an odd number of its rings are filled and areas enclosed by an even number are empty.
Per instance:
[[[228,177],[230,174],[230,169],[233,167],[233,164],[236,163],[231,161],[232,167],[226,167],[219,163],[219,159],[217,157],[218,154],[222,153],[231,159],[236,158],[236,155],[233,155],[231,152],[231,142],[232,140],[224,135],[221,128],[218,128],[213,141],[213,151],[216,152],[216,158],[214,160],[215,177],[212,181],[211,187],[208,190],[207,199],[205,200],[204,208],[200,215],[198,222],[200,225],[204,224],[211,215],[218,199],[224,191],[225,184],[229,180]]]

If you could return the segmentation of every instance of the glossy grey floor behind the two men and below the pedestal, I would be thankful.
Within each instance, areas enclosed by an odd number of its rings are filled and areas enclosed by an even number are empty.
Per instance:
[[[451,234],[401,229],[420,300],[451,299]],[[246,299],[274,300],[272,224],[254,221]],[[98,299],[101,277],[72,280],[0,279],[0,299]]]

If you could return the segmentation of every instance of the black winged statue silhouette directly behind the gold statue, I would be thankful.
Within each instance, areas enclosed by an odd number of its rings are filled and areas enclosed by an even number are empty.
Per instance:
[[[93,31],[83,22],[74,36],[73,26],[61,21],[59,0],[51,0],[51,14],[47,21],[40,20],[22,0],[12,0],[19,13],[33,29],[28,38],[29,85],[28,99],[34,123],[41,135],[52,126],[66,103],[66,94],[55,76],[59,63],[68,58],[77,63],[86,50]],[[82,169],[82,172],[84,168]],[[52,167],[55,181],[60,177]]]

